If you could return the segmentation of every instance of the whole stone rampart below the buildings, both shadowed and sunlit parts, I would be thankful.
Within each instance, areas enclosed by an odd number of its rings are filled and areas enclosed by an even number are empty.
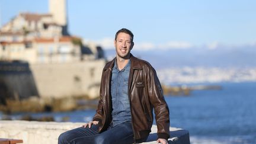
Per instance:
[[[1,98],[22,99],[30,96],[98,97],[105,60],[75,63],[28,65],[25,62],[0,63]]]

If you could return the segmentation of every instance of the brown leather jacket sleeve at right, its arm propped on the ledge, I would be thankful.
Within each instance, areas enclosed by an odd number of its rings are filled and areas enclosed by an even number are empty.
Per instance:
[[[165,101],[161,84],[155,69],[151,68],[147,76],[148,95],[155,111],[156,126],[158,127],[158,138],[169,138],[169,108]]]

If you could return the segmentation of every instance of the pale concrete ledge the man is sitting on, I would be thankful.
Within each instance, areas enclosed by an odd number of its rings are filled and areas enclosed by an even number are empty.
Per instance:
[[[57,143],[60,133],[82,126],[82,124],[84,123],[2,120],[0,121],[0,138],[23,139],[23,142],[27,144]],[[156,126],[153,125],[151,130],[151,135],[145,143],[156,143]],[[190,143],[187,130],[170,127],[170,134],[169,144]]]

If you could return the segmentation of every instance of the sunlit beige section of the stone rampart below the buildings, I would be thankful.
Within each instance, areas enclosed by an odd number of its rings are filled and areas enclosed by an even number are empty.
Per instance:
[[[41,97],[98,97],[105,60],[30,65]]]

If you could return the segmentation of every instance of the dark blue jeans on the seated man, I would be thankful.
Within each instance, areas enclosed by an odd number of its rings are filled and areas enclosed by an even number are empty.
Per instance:
[[[114,127],[109,127],[103,133],[98,133],[98,126],[78,127],[62,133],[59,136],[58,144],[79,144],[79,143],[133,143],[133,130],[131,123],[121,123]]]

